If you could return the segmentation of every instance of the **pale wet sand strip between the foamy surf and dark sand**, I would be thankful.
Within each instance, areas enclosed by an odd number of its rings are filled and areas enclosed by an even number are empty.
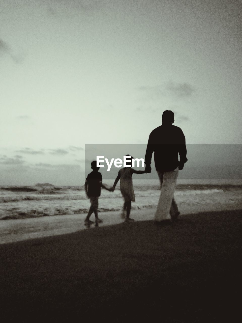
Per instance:
[[[198,214],[204,212],[242,210],[242,203],[229,204],[199,204],[198,206],[184,207],[178,205],[182,217],[185,214]],[[149,221],[154,219],[155,207],[131,210],[131,218],[135,221]],[[99,227],[121,224],[120,211],[99,212],[103,223]],[[70,234],[86,228],[84,219],[86,214],[51,215],[37,218],[9,219],[0,221],[0,244],[8,244],[28,239]],[[94,214],[91,220],[94,219]]]

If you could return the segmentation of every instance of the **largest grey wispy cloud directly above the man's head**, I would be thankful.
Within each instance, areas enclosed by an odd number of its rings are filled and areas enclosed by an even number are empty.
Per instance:
[[[186,98],[192,96],[192,94],[196,91],[196,89],[188,83],[176,82],[169,82],[157,86],[141,86],[138,88],[138,90],[145,94],[146,99],[151,100],[157,100],[164,96]]]

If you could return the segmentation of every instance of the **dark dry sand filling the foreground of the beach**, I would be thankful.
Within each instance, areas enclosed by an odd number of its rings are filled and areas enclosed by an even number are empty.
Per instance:
[[[2,322],[235,322],[242,211],[0,245]]]

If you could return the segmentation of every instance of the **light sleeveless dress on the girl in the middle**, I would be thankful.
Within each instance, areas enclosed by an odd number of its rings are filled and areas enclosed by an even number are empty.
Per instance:
[[[133,169],[131,167],[125,167],[120,169],[120,192],[123,195],[125,202],[135,202],[135,192],[133,188],[132,174]]]

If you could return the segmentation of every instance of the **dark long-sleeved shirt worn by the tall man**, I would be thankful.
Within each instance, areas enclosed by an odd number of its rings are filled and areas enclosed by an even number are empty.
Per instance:
[[[186,139],[181,128],[162,125],[151,131],[146,148],[146,165],[150,165],[154,151],[156,171],[169,172],[176,169],[180,162],[187,161]]]

